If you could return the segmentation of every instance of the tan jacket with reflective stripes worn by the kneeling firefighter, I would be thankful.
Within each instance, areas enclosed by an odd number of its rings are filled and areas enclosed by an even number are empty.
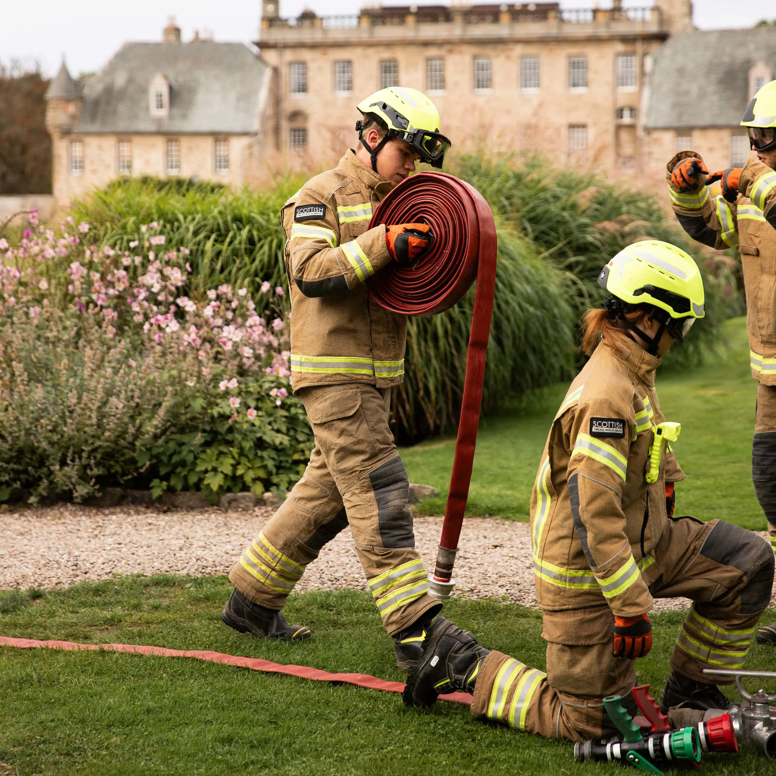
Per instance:
[[[531,499],[536,598],[546,611],[652,608],[655,546],[667,524],[665,482],[684,480],[670,449],[646,483],[660,359],[625,333],[601,341],[558,410]]]

